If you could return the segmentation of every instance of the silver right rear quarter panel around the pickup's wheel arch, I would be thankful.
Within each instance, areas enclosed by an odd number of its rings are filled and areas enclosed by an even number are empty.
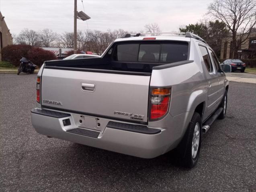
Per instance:
[[[166,134],[174,142],[167,151],[175,148],[182,139],[197,105],[207,102],[208,82],[201,57],[193,43],[189,60],[194,62],[152,71],[150,86],[172,87],[168,115],[161,120],[149,122],[150,127],[166,128]]]

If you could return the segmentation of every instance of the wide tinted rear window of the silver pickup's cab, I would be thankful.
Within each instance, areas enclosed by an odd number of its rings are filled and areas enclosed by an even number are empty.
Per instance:
[[[136,43],[117,45],[117,61],[173,63],[187,59],[187,43]]]

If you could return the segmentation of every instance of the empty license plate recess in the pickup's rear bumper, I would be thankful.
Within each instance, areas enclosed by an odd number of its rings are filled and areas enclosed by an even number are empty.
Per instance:
[[[76,126],[80,128],[87,128],[92,130],[103,131],[106,127],[108,120],[102,118],[96,118],[86,115],[74,115],[74,122]]]

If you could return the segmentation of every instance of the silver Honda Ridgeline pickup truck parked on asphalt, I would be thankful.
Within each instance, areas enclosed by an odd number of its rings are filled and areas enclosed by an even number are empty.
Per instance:
[[[173,150],[192,168],[202,133],[225,117],[222,69],[195,34],[126,34],[100,58],[45,62],[32,124],[49,137],[141,158]]]

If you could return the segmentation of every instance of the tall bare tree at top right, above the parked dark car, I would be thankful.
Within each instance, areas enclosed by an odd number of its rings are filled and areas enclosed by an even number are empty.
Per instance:
[[[250,36],[256,24],[256,0],[214,0],[208,14],[225,23],[232,33],[231,51],[238,57],[238,49]]]

